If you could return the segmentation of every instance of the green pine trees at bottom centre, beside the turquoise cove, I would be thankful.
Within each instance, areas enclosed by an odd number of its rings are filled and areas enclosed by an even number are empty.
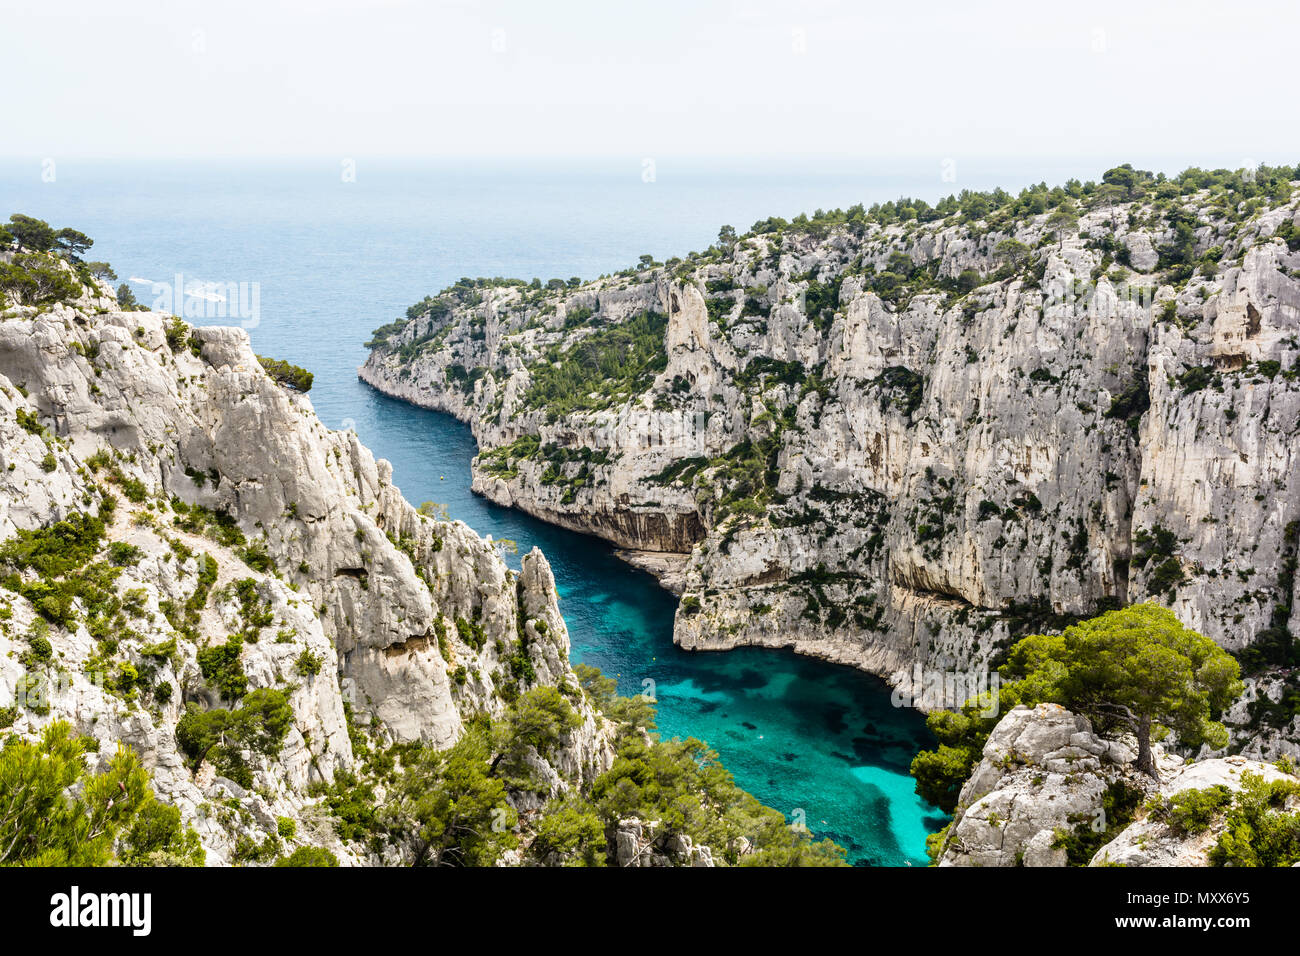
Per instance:
[[[478,717],[450,750],[416,744],[380,748],[360,728],[358,775],[341,775],[320,795],[339,836],[373,852],[400,847],[415,865],[490,866],[511,855],[528,865],[627,865],[616,855],[620,823],[655,825],[645,853],[708,847],[718,864],[842,865],[844,851],[812,842],[736,787],[718,756],[698,740],[658,740],[654,706],[615,693],[615,682],[577,666],[573,684],[520,695],[499,719]],[[616,727],[616,756],[593,779],[558,784],[540,775],[580,722],[576,696]],[[382,801],[378,790],[386,793]],[[516,806],[536,805],[523,813]]]

